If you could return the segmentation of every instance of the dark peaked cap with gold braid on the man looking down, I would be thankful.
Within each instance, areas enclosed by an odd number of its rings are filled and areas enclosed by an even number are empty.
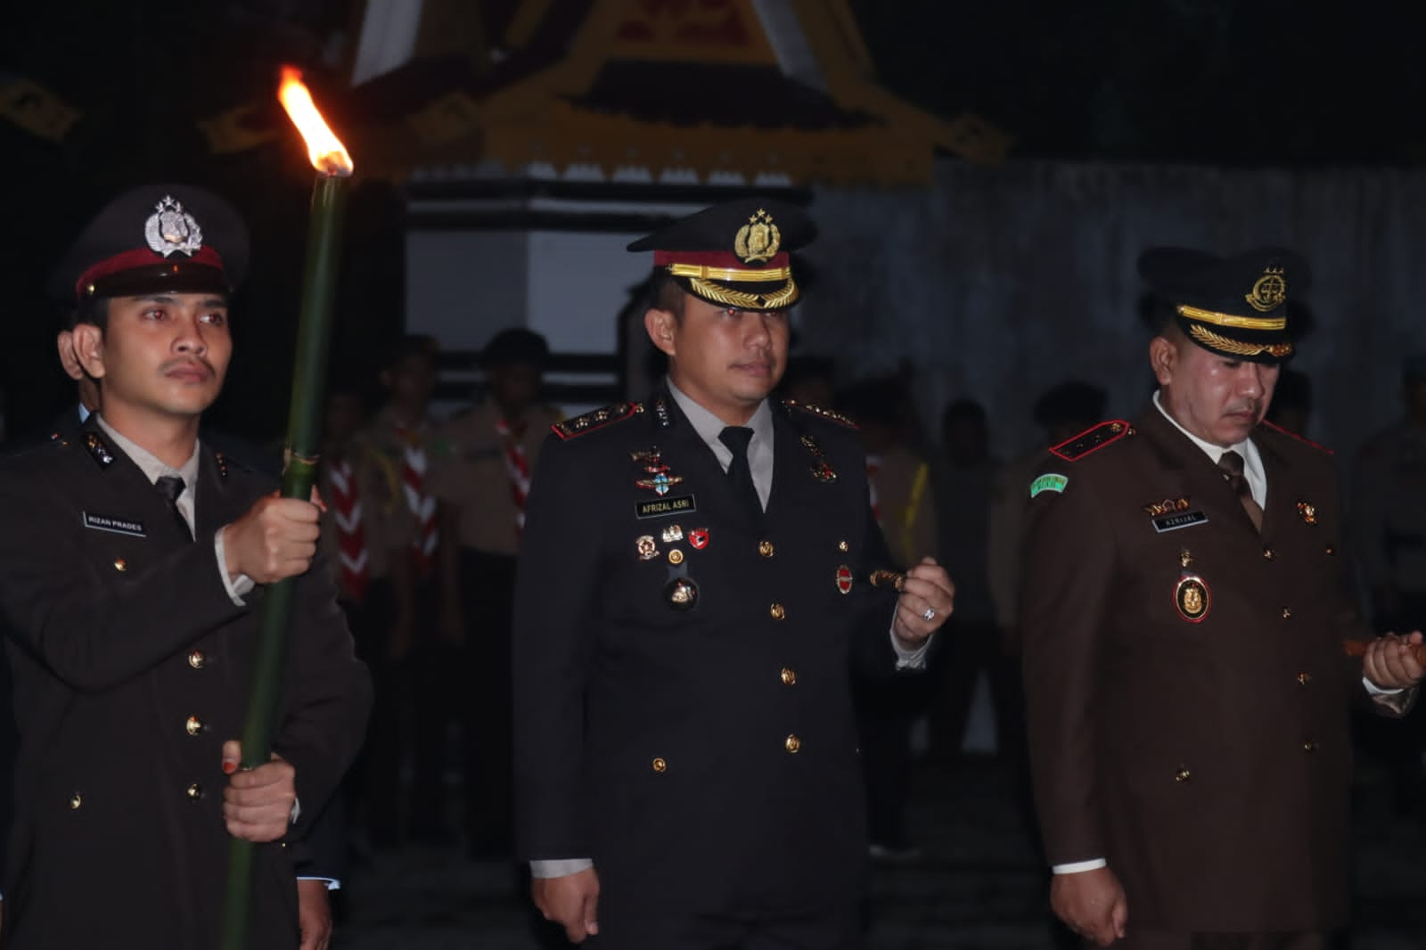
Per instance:
[[[1139,255],[1139,275],[1204,349],[1251,362],[1292,355],[1288,294],[1301,294],[1310,280],[1299,254],[1262,247],[1216,257],[1156,247]]]

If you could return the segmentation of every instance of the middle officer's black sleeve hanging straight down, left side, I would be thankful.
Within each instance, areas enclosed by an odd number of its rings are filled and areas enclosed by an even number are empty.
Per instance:
[[[523,860],[590,852],[582,775],[600,532],[580,526],[602,516],[602,502],[582,448],[546,442],[525,506],[512,645],[515,833]]]

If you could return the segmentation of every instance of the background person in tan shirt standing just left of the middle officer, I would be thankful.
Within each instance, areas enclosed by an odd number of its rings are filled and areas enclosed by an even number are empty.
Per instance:
[[[532,330],[498,332],[481,352],[486,398],[441,428],[442,598],[463,633],[466,849],[509,857],[511,612],[525,496],[540,445],[560,414],[538,402],[549,345]]]

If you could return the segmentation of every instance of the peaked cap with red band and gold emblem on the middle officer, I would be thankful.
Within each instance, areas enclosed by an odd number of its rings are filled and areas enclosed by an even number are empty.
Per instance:
[[[801,291],[789,251],[811,242],[816,228],[780,201],[724,201],[680,218],[629,245],[653,251],[653,265],[694,297],[737,310],[787,310]]]

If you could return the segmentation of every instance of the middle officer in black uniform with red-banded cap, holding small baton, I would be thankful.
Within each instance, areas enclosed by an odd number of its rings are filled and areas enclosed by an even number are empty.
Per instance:
[[[893,565],[856,429],[769,399],[811,231],[749,200],[632,244],[655,255],[645,328],[667,379],[555,425],[535,471],[516,836],[575,941],[861,946],[847,668],[920,666],[953,586],[930,559],[873,586]]]

